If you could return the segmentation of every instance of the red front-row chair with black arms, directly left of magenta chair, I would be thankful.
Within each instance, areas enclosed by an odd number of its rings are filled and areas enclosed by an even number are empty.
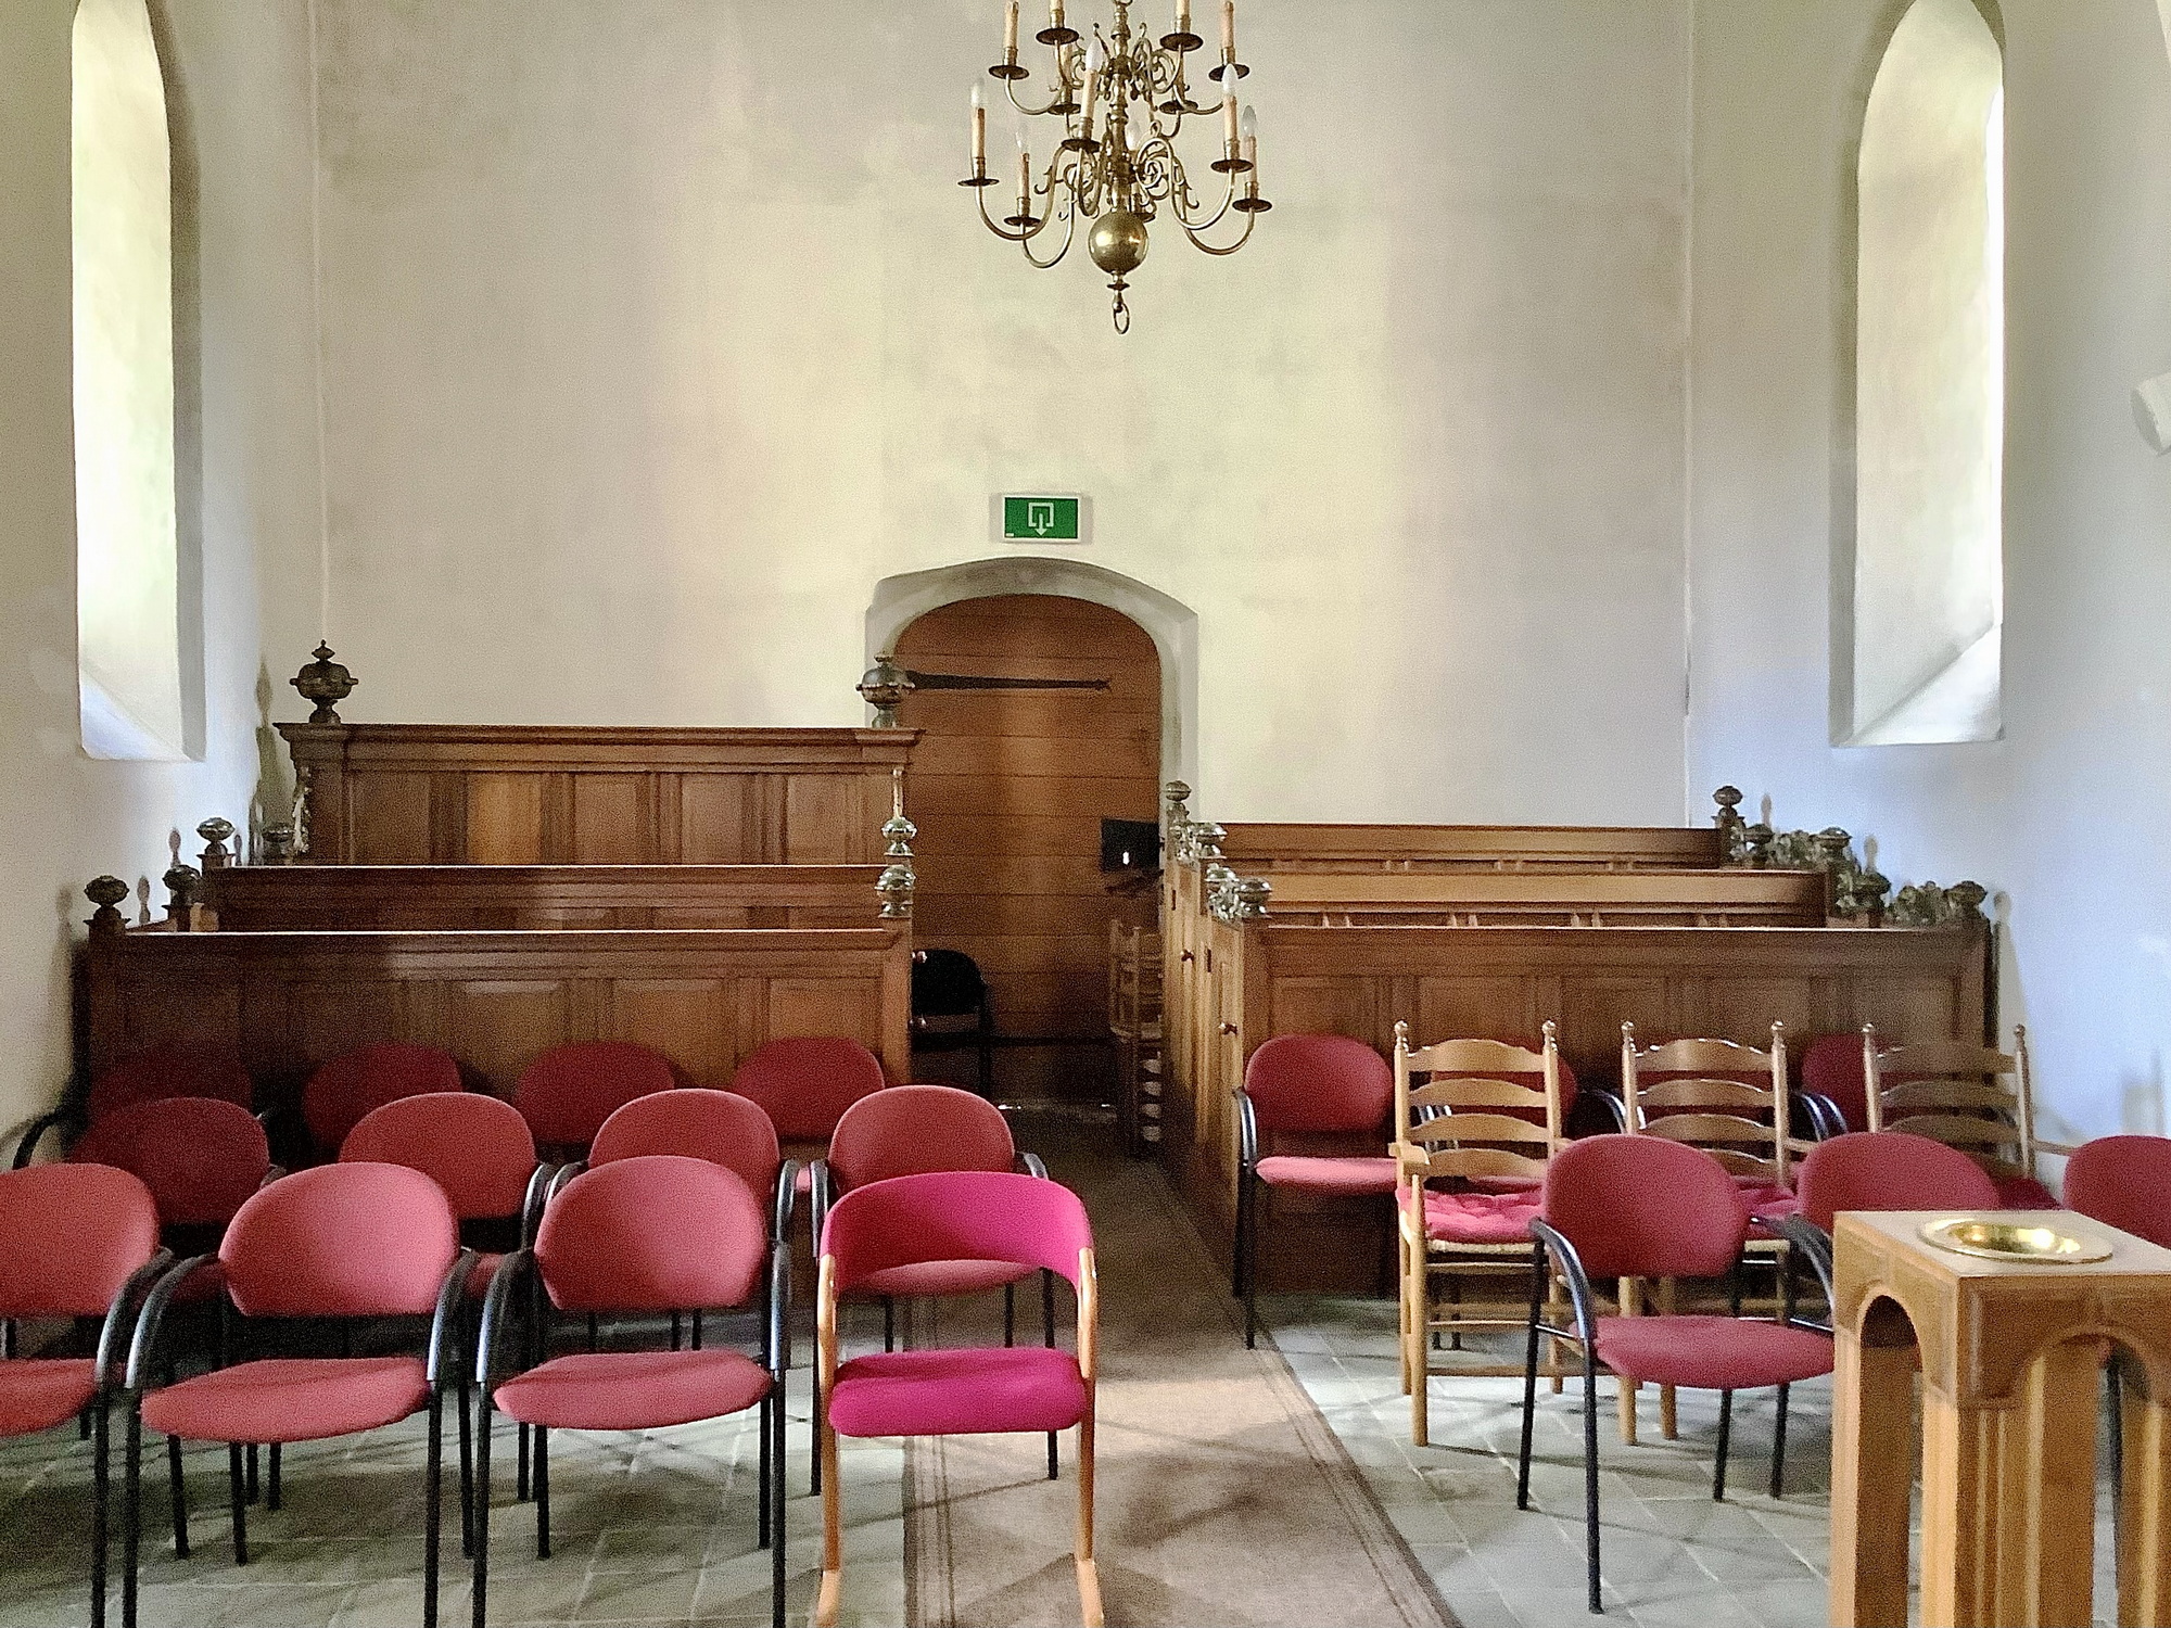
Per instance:
[[[538,1283],[543,1296],[521,1294]],[[586,1350],[519,1368],[549,1350],[547,1328],[517,1331],[523,1309],[623,1313],[740,1307],[766,1281],[760,1361],[736,1350]],[[534,1248],[508,1255],[482,1313],[475,1381],[482,1439],[475,1500],[475,1628],[491,1563],[491,1415],[536,1437],[536,1554],[549,1556],[549,1433],[656,1430],[762,1409],[760,1541],[771,1548],[771,1617],[784,1624],[782,1320],[790,1255],[773,1246],[769,1209],[708,1159],[649,1153],[586,1170],[543,1211]]]

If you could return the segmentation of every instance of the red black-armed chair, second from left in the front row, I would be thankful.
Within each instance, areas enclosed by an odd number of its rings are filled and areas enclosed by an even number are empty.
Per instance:
[[[217,1259],[243,1318],[428,1318],[419,1357],[247,1357],[152,1387],[167,1305]],[[439,1493],[445,1387],[458,1368],[460,1292],[473,1268],[452,1205],[430,1177],[389,1163],[328,1163],[274,1181],[226,1229],[217,1257],[180,1261],[143,1302],[128,1352],[124,1619],[135,1621],[143,1428],[226,1443],[234,1561],[247,1563],[243,1446],[321,1441],[430,1415],[423,1474],[423,1628],[436,1624]]]

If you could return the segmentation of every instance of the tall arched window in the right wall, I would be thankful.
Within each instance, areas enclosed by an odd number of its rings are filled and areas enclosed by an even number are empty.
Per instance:
[[[2004,59],[1915,0],[1856,167],[1854,582],[1843,745],[1995,740],[2004,473]]]

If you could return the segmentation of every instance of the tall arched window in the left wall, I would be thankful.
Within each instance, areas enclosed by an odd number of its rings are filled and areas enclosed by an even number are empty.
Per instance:
[[[174,182],[143,0],[78,0],[72,61],[82,747],[185,758]]]

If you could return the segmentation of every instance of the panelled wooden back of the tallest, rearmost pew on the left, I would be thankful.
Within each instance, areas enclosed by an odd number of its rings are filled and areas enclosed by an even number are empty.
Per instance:
[[[910,729],[282,723],[315,864],[871,864]]]

